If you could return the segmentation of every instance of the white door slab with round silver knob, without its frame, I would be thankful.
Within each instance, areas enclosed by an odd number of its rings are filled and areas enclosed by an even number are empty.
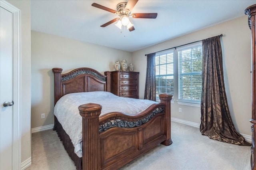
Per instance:
[[[12,13],[2,7],[0,7],[0,80],[0,169],[11,170]]]

